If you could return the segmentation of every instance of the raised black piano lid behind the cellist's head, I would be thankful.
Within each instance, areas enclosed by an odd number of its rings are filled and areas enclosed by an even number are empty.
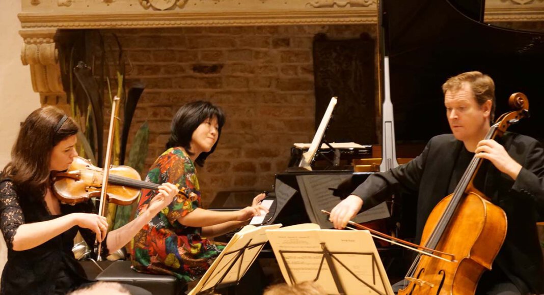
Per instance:
[[[544,139],[543,34],[475,21],[458,9],[478,15],[478,7],[467,7],[467,1],[457,0],[461,6],[447,0],[382,1],[397,140],[426,141],[450,133],[442,83],[474,70],[495,81],[496,117],[509,110],[511,93],[525,93],[531,118],[511,130]]]

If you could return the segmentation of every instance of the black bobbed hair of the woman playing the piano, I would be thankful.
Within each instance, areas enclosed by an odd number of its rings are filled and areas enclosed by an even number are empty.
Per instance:
[[[219,137],[221,136],[221,128],[225,124],[225,114],[218,106],[204,101],[184,104],[177,110],[176,115],[172,119],[170,139],[168,139],[168,143],[166,143],[166,149],[183,147],[189,155],[192,155],[193,153],[191,153],[190,148],[193,132],[202,122],[213,117],[217,118],[217,123],[219,124],[217,141],[209,152],[200,153],[196,158],[196,164],[202,167],[206,158],[208,158],[215,150],[215,147],[217,147]]]

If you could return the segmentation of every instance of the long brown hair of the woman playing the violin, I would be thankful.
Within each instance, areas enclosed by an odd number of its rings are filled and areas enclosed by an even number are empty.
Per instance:
[[[28,115],[11,149],[11,161],[2,171],[3,177],[13,180],[19,189],[42,197],[50,177],[53,147],[78,131],[71,118],[61,122],[64,116],[54,106],[44,106]]]

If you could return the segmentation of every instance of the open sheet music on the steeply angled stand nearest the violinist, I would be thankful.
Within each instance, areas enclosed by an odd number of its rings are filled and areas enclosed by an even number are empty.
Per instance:
[[[281,224],[262,227],[246,225],[234,234],[189,295],[211,292],[216,288],[238,284],[268,241],[265,230],[280,227]]]

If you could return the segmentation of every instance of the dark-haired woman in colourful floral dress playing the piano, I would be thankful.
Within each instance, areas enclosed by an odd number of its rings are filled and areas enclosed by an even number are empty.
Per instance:
[[[175,199],[134,237],[133,268],[140,272],[175,275],[192,281],[203,275],[224,248],[208,240],[236,229],[259,215],[259,194],[253,204],[239,211],[215,212],[201,208],[195,164],[202,166],[213,153],[225,115],[203,101],[183,105],[172,120],[165,152],[151,166],[146,181],[179,185],[186,198]],[[137,215],[149,210],[155,192],[143,190]]]

